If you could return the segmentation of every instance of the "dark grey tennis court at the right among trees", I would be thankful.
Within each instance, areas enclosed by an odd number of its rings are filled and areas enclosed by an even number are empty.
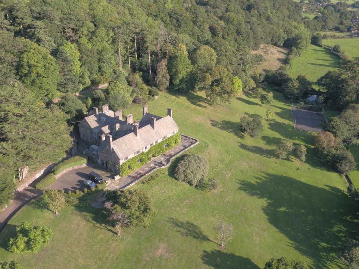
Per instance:
[[[294,128],[319,133],[322,128],[319,124],[325,120],[323,113],[292,107]]]

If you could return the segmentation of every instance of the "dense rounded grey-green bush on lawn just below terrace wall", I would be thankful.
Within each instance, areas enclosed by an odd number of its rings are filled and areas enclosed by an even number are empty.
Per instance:
[[[187,182],[191,186],[200,186],[207,178],[208,161],[198,155],[191,154],[180,161],[174,171],[174,177],[183,182]]]

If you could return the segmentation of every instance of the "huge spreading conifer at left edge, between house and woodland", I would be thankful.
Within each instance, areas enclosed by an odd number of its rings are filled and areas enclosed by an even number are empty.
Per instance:
[[[0,117],[0,167],[13,175],[18,167],[33,171],[57,162],[71,146],[64,114],[39,104],[26,90],[1,87]]]

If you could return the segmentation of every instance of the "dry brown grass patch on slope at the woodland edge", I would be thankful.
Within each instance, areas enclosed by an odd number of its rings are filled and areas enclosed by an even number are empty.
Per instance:
[[[277,70],[285,64],[288,49],[262,44],[257,51],[252,51],[252,53],[259,54],[264,57],[264,61],[259,65],[259,71],[267,72],[269,70]]]

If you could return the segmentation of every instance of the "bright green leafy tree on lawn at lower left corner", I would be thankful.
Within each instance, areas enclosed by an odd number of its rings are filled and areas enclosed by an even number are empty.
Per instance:
[[[23,221],[16,228],[16,236],[10,238],[9,251],[14,253],[37,253],[52,237],[50,228],[43,225],[35,226]]]

